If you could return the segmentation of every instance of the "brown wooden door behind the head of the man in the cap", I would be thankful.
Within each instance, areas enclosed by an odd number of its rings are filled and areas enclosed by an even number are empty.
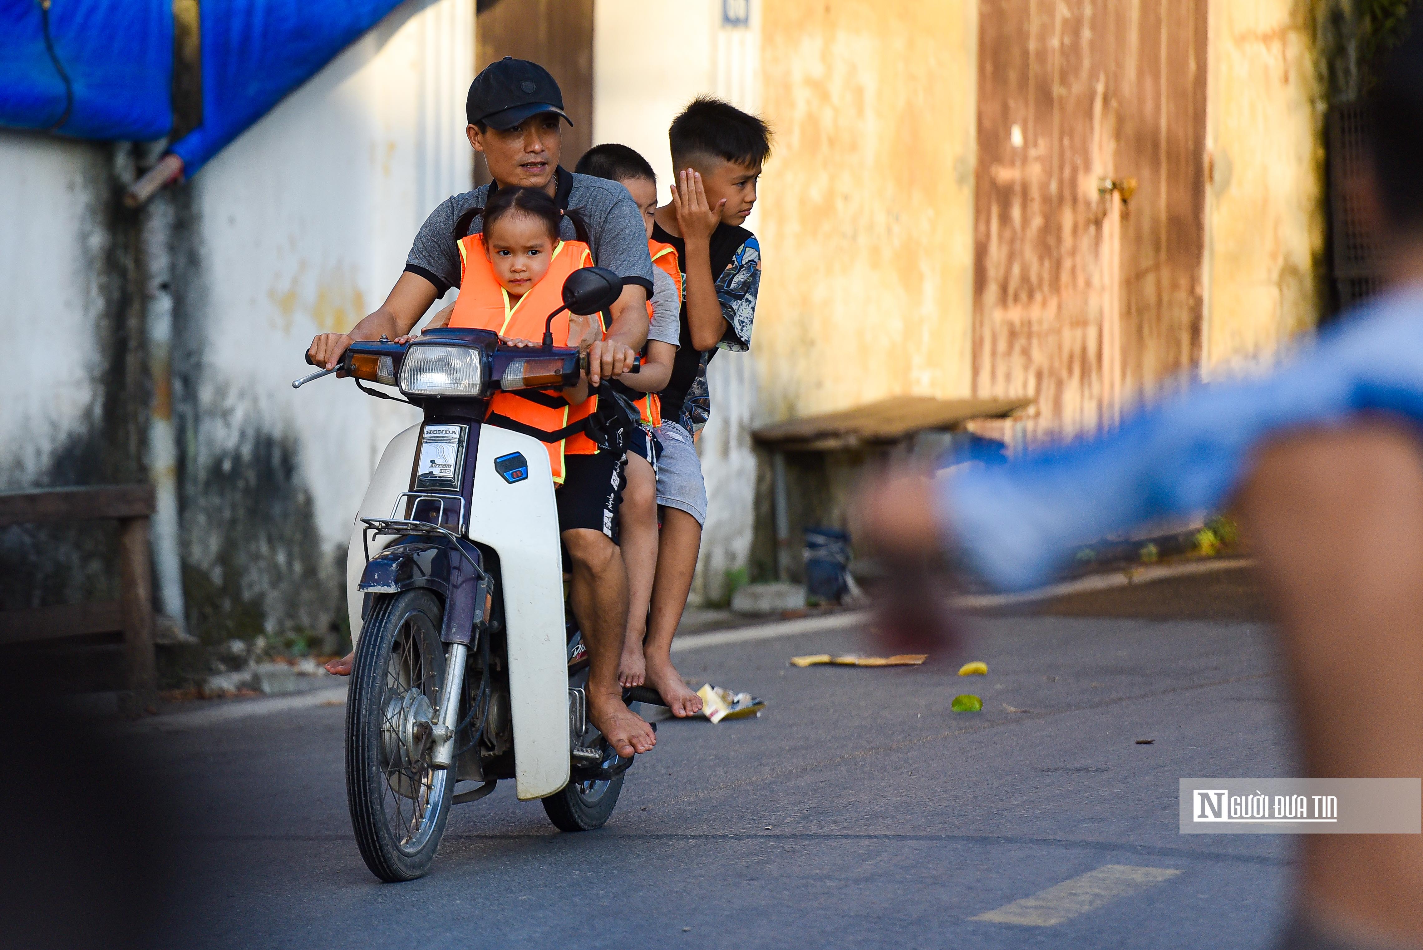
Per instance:
[[[478,0],[474,68],[512,55],[548,70],[573,119],[564,128],[564,168],[572,169],[593,144],[593,0]],[[490,181],[475,161],[475,183]]]

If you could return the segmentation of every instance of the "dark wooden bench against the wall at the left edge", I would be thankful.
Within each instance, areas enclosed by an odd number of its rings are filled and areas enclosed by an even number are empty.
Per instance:
[[[118,600],[0,612],[0,647],[94,633],[124,634],[120,708],[137,712],[157,701],[154,594],[148,557],[152,485],[100,485],[0,492],[0,528],[73,521],[118,522]]]

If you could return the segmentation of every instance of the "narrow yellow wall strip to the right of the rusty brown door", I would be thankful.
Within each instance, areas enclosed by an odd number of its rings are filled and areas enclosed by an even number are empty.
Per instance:
[[[1202,373],[1319,319],[1322,88],[1309,0],[1211,0]]]

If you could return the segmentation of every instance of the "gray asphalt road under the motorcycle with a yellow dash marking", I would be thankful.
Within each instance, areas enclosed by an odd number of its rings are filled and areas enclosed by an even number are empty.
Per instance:
[[[686,676],[767,712],[662,724],[598,832],[559,833],[501,784],[455,808],[433,872],[406,885],[356,850],[337,705],[141,732],[127,741],[188,804],[166,932],[184,947],[1268,947],[1289,839],[1177,832],[1178,778],[1291,774],[1272,636],[1244,621],[1254,594],[1232,573],[979,616],[963,656],[916,668],[787,666],[874,651],[844,630],[684,653]],[[958,677],[965,660],[989,676]],[[983,711],[951,711],[959,693]]]

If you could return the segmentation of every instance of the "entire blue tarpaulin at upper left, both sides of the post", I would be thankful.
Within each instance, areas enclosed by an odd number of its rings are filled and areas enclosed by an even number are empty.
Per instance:
[[[398,0],[199,0],[202,125],[174,142],[192,175]],[[94,139],[172,128],[172,0],[0,0],[0,125]],[[65,114],[64,75],[73,107]]]

